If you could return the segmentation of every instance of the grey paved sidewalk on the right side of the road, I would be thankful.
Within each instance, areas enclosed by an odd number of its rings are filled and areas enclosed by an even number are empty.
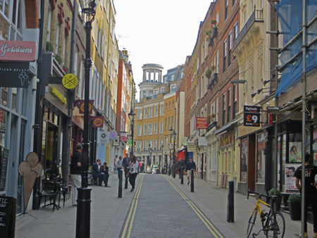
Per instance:
[[[166,175],[167,176],[167,175]],[[168,176],[167,176],[168,177]],[[174,184],[191,199],[201,211],[223,232],[225,237],[247,237],[247,222],[251,212],[256,205],[256,199],[251,196],[234,194],[234,222],[227,222],[228,211],[228,189],[220,189],[211,182],[206,182],[200,178],[194,180],[194,192],[190,192],[190,185],[187,185],[187,177],[184,177],[184,184],[180,184],[180,179],[168,177]],[[262,208],[263,206],[261,206]],[[265,206],[264,206],[265,207]],[[268,209],[263,208],[268,211]],[[282,212],[285,218],[285,238],[298,237],[301,232],[301,221],[291,220],[290,214]],[[259,218],[256,218],[259,219]],[[259,228],[255,226],[253,232],[258,232]],[[308,223],[309,237],[313,237],[313,225]],[[265,237],[263,232],[258,237]]]

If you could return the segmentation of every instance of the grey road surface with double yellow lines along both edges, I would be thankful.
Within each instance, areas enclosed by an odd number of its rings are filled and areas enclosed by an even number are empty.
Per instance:
[[[139,176],[120,237],[223,237],[171,177]]]

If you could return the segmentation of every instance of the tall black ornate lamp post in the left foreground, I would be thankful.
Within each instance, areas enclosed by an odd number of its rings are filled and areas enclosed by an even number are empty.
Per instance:
[[[92,59],[90,56],[90,44],[92,35],[92,21],[98,6],[99,0],[80,0],[82,13],[87,14],[86,30],[86,58],[85,58],[85,108],[84,108],[84,132],[82,152],[82,187],[77,189],[77,220],[76,237],[90,237],[90,203],[92,189],[88,187],[88,151],[89,151],[89,80]]]

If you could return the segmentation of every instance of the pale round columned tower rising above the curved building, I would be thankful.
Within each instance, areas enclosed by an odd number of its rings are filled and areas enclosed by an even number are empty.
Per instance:
[[[163,66],[156,63],[147,63],[142,66],[143,80],[139,83],[139,99],[153,97],[154,87],[163,84]]]

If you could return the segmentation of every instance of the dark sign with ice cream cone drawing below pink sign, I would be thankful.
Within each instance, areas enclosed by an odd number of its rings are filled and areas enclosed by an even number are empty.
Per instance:
[[[30,63],[0,62],[0,87],[28,87]]]

